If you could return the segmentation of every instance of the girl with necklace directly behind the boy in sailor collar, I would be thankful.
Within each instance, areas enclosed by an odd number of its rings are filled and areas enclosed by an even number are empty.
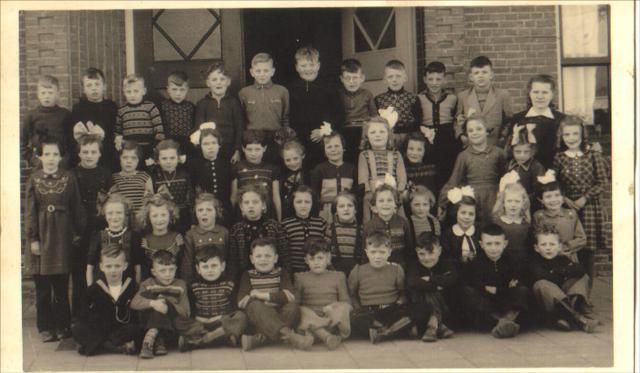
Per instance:
[[[87,254],[87,267],[85,279],[87,287],[96,280],[96,274],[102,276],[98,271],[100,257],[104,250],[117,245],[119,250],[125,253],[125,258],[129,266],[124,272],[125,277],[131,277],[140,283],[140,265],[144,261],[144,252],[140,244],[140,235],[131,229],[131,208],[129,201],[116,190],[112,190],[108,195],[100,195],[101,204],[99,213],[107,221],[105,229],[93,232],[89,243]]]

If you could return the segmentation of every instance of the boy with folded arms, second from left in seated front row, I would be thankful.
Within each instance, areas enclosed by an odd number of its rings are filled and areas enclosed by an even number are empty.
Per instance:
[[[142,281],[138,293],[131,301],[131,308],[142,311],[145,335],[140,357],[151,359],[166,355],[164,339],[172,333],[175,320],[189,317],[187,285],[176,278],[176,257],[166,250],[158,250],[151,256],[151,275]]]

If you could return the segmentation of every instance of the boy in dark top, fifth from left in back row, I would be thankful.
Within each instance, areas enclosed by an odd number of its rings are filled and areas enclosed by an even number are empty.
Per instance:
[[[209,93],[196,104],[196,126],[214,122],[221,135],[218,158],[236,163],[240,160],[244,113],[238,98],[228,92],[231,77],[224,62],[216,60],[209,66],[206,84]]]

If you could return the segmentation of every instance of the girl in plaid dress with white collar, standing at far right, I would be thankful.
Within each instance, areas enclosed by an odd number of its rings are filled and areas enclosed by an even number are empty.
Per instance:
[[[587,144],[584,124],[575,116],[560,122],[559,151],[553,159],[553,168],[565,190],[565,203],[578,212],[587,235],[587,245],[578,252],[578,258],[593,278],[593,254],[598,248],[607,248],[604,231],[606,213],[600,197],[607,184],[607,166],[599,152]],[[589,289],[593,284],[590,281]]]

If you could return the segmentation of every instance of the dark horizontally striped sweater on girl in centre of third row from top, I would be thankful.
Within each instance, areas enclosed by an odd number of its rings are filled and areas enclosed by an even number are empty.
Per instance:
[[[308,271],[304,261],[306,255],[304,243],[311,237],[324,238],[327,223],[324,219],[311,216],[307,219],[299,217],[287,218],[282,221],[282,228],[287,235],[288,252],[283,252],[283,260],[291,273]]]

